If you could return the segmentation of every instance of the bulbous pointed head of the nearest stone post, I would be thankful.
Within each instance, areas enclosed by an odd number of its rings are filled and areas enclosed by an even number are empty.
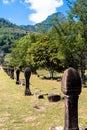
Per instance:
[[[81,93],[81,78],[79,73],[72,67],[65,70],[62,76],[62,92],[65,95],[79,95]]]

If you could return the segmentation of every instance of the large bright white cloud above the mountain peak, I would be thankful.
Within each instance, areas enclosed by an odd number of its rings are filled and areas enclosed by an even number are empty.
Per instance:
[[[55,13],[56,9],[63,5],[63,0],[25,0],[25,3],[30,4],[29,9],[35,11],[29,14],[29,20],[39,23]]]

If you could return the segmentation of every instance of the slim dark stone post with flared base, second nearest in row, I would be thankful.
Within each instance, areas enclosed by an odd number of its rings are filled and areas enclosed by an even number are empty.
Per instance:
[[[24,71],[24,76],[25,76],[25,95],[31,95],[31,91],[30,91],[30,76],[31,76],[31,69],[29,67],[26,67],[25,68],[25,71]]]

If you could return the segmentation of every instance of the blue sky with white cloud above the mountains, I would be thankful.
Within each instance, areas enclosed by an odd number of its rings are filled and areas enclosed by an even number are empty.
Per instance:
[[[34,25],[56,12],[67,13],[66,0],[0,0],[0,18],[16,25]]]

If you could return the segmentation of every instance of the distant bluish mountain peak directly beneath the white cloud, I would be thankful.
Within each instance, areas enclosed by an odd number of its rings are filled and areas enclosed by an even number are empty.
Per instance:
[[[51,29],[52,23],[55,21],[55,19],[58,22],[62,22],[66,18],[61,12],[58,12],[58,13],[54,13],[54,14],[48,16],[47,19],[41,23],[38,23],[35,25],[26,25],[26,26],[22,25],[21,27],[28,31],[38,31],[38,32],[49,31]]]

